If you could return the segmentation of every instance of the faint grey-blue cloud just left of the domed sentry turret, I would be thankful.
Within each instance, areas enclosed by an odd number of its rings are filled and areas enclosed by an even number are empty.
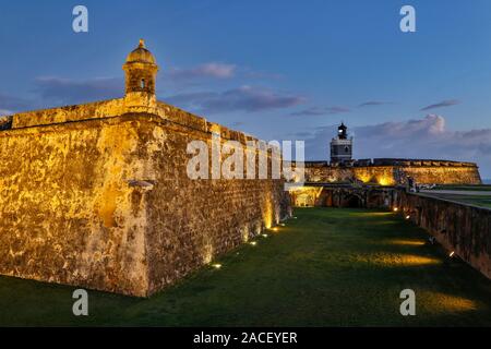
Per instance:
[[[116,77],[75,81],[48,76],[37,77],[35,85],[35,92],[44,100],[55,105],[74,105],[117,98],[124,93],[124,82]]]

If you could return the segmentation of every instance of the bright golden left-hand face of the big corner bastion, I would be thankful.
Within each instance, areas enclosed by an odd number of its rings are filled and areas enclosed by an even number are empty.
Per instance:
[[[0,274],[144,294],[137,143],[115,119],[0,132]]]

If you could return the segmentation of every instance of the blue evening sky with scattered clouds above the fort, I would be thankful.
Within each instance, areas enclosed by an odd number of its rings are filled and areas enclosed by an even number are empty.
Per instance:
[[[88,33],[72,28],[75,5]],[[403,5],[416,32],[403,33]],[[158,99],[327,160],[475,161],[491,178],[491,1],[1,1],[0,115],[123,96],[144,38]]]

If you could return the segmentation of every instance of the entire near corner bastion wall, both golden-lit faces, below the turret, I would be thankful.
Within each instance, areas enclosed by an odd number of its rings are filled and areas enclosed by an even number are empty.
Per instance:
[[[250,136],[123,103],[15,115],[0,132],[0,274],[148,296],[290,214],[283,180],[188,178],[189,141]]]

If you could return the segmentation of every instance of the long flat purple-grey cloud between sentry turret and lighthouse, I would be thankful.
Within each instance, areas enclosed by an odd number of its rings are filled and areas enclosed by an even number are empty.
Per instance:
[[[165,99],[170,104],[199,113],[265,111],[295,107],[306,101],[306,98],[302,96],[280,94],[271,89],[251,86],[241,86],[223,93],[180,94]]]

